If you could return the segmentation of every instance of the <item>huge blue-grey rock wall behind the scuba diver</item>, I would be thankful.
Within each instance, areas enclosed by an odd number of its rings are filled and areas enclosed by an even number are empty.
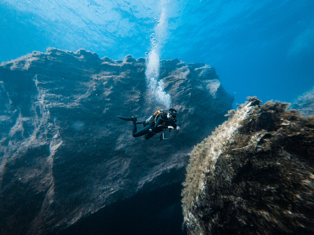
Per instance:
[[[133,138],[156,106],[145,59],[49,49],[0,66],[0,233],[55,234],[81,217],[184,180],[192,147],[225,120],[233,97],[213,67],[162,60],[181,131]],[[139,127],[139,126],[138,126]],[[19,226],[16,226],[16,225]]]

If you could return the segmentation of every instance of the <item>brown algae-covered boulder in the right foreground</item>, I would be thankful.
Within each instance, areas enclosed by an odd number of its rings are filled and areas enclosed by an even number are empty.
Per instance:
[[[314,234],[314,119],[256,97],[190,154],[187,234]]]

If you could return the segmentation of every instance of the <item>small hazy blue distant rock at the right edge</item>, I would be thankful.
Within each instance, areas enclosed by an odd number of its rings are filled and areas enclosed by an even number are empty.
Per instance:
[[[290,105],[291,109],[296,109],[303,116],[314,115],[314,87],[297,97]]]

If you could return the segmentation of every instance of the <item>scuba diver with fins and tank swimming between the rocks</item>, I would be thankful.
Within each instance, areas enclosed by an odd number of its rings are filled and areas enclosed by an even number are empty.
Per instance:
[[[123,118],[118,116],[122,120],[133,122],[133,137],[139,137],[145,135],[145,139],[152,138],[156,133],[163,132],[165,129],[169,131],[176,129],[178,132],[180,127],[176,125],[177,113],[174,108],[170,108],[169,112],[164,112],[163,110],[156,110],[146,121],[136,122],[137,117]],[[136,125],[143,124],[144,128],[137,130]],[[177,132],[177,133],[178,133]],[[172,137],[171,137],[172,138]],[[163,138],[163,133],[160,136],[160,140]]]

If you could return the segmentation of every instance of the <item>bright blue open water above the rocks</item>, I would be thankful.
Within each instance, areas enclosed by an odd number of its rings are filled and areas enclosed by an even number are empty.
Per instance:
[[[0,0],[0,61],[47,47],[146,57],[152,33],[159,59],[213,65],[234,107],[314,86],[313,0]]]

